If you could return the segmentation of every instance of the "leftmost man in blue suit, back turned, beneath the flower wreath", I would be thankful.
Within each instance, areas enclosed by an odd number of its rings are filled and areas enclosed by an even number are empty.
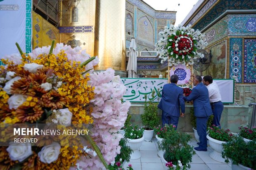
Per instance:
[[[183,89],[177,86],[179,77],[171,76],[171,83],[165,84],[162,91],[162,98],[158,108],[163,110],[162,123],[173,124],[177,129],[179,116],[184,117],[185,102],[183,99]],[[180,113],[181,108],[181,113]]]

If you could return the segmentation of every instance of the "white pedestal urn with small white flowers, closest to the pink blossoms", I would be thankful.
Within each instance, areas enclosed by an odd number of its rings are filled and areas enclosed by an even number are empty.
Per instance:
[[[125,129],[126,133],[124,137],[127,137],[128,146],[133,149],[133,153],[130,154],[130,159],[132,160],[139,159],[141,156],[138,149],[141,147],[142,141],[144,140],[143,131],[144,129],[138,129],[137,125],[134,127],[130,125]]]

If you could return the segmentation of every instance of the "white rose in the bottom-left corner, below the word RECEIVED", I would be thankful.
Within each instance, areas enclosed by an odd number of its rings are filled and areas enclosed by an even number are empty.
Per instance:
[[[19,162],[24,161],[28,156],[33,154],[30,143],[10,142],[6,151],[9,153],[9,157],[12,161],[18,160]]]

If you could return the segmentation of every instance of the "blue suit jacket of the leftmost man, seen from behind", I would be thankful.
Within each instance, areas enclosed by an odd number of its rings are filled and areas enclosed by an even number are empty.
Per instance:
[[[162,98],[158,108],[171,116],[180,116],[185,112],[185,102],[183,99],[183,88],[178,87],[175,83],[165,84],[162,91]]]

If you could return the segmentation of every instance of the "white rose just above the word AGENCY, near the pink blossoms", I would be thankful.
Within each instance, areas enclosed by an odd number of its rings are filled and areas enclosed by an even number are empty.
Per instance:
[[[72,113],[69,111],[68,108],[66,109],[59,109],[57,110],[57,120],[60,124],[64,126],[70,126],[71,125],[71,119],[72,119]]]

